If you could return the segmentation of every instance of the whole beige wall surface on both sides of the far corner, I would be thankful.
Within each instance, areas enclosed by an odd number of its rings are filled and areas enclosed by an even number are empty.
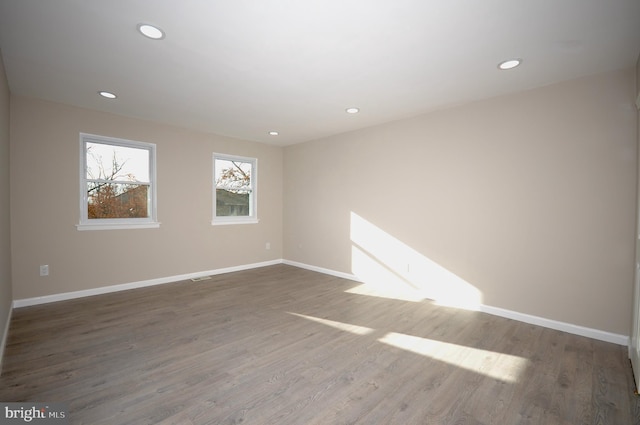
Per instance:
[[[485,305],[628,335],[633,102],[634,71],[622,70],[283,150],[13,96],[13,298],[279,258],[353,273],[364,259],[427,294],[476,291]],[[160,229],[76,230],[79,132],[158,145]],[[210,225],[214,151],[258,158],[259,224]]]

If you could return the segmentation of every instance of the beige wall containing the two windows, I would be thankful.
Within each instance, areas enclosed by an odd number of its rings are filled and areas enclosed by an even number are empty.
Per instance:
[[[159,229],[76,229],[80,132],[156,144]],[[258,224],[211,225],[213,152],[258,158]],[[14,298],[282,258],[282,154],[280,147],[12,96]],[[41,264],[49,276],[39,276]]]

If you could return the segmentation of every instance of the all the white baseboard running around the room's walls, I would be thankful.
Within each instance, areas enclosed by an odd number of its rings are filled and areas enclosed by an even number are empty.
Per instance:
[[[327,274],[327,275],[330,275],[330,276],[336,276],[336,277],[339,277],[339,278],[342,278],[342,279],[353,280],[353,281],[356,281],[356,282],[360,282],[361,281],[360,279],[358,279],[358,277],[356,275],[351,274],[351,273],[339,272],[339,271],[336,271],[336,270],[331,270],[331,269],[327,269],[327,268],[324,268],[324,267],[312,266],[310,264],[300,263],[300,262],[297,262],[297,261],[280,259],[280,260],[265,261],[265,262],[262,262],[262,263],[253,263],[253,264],[246,264],[246,265],[242,265],[242,266],[226,267],[226,268],[222,268],[222,269],[208,270],[208,271],[203,271],[203,272],[198,272],[198,273],[188,273],[188,274],[182,274],[182,275],[176,275],[176,276],[170,276],[170,277],[164,277],[164,278],[158,278],[158,279],[143,280],[143,281],[140,281],[140,282],[125,283],[125,284],[121,284],[121,285],[103,286],[103,287],[100,287],[100,288],[87,289],[87,290],[83,290],[83,291],[66,292],[66,293],[62,293],[62,294],[47,295],[47,296],[43,296],[43,297],[26,298],[26,299],[21,299],[21,300],[15,300],[13,302],[13,307],[14,308],[28,307],[28,306],[32,306],[32,305],[45,304],[45,303],[56,302],[56,301],[70,300],[70,299],[74,299],[74,298],[89,297],[89,296],[92,296],[92,295],[107,294],[107,293],[110,293],[110,292],[126,291],[126,290],[129,290],[129,289],[144,288],[146,286],[154,286],[154,285],[162,285],[162,284],[165,284],[165,283],[177,282],[177,281],[181,281],[181,280],[193,279],[193,278],[198,278],[198,277],[203,277],[203,276],[213,276],[213,275],[217,275],[217,274],[231,273],[231,272],[237,272],[237,271],[242,271],[242,270],[255,269],[255,268],[258,268],[258,267],[271,266],[271,265],[274,265],[274,264],[287,264],[287,265],[290,265],[290,266],[294,266],[294,267],[298,267],[298,268],[302,268],[302,269],[307,269],[307,270],[311,270],[311,271],[314,271],[314,272]],[[629,336],[628,335],[615,334],[615,333],[612,333],[612,332],[606,332],[606,331],[602,331],[602,330],[599,330],[599,329],[587,328],[587,327],[584,327],[584,326],[574,325],[574,324],[566,323],[566,322],[560,322],[560,321],[557,321],[557,320],[547,319],[547,318],[539,317],[539,316],[533,316],[533,315],[525,314],[525,313],[519,313],[517,311],[507,310],[507,309],[499,308],[499,307],[492,307],[492,306],[488,306],[488,305],[480,305],[478,310],[481,311],[481,312],[484,312],[484,313],[493,314],[494,316],[500,316],[500,317],[504,317],[504,318],[507,318],[507,319],[518,320],[520,322],[530,323],[532,325],[538,325],[538,326],[543,326],[545,328],[550,328],[550,329],[555,329],[555,330],[559,330],[559,331],[563,331],[563,332],[568,332],[568,333],[571,333],[571,334],[574,334],[574,335],[585,336],[585,337],[588,337],[588,338],[592,338],[592,339],[596,339],[596,340],[600,340],[600,341],[611,342],[611,343],[618,344],[618,345],[623,345],[623,346],[628,346],[629,345]],[[5,333],[4,333],[3,339],[2,339],[2,346],[0,347],[0,349],[2,349],[2,350],[4,349],[5,339],[6,339],[6,336],[7,336],[7,333],[8,333],[7,332],[8,326],[9,325],[8,325],[8,322],[7,322],[7,329],[5,329]]]

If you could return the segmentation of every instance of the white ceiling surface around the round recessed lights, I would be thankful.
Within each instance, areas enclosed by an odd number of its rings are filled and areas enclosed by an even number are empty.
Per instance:
[[[631,67],[640,0],[0,0],[0,49],[14,94],[288,145]]]

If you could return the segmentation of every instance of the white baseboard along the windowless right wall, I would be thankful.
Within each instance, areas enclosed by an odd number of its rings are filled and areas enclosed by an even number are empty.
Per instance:
[[[331,276],[341,277],[343,279],[354,280],[356,282],[360,282],[361,280],[353,274],[338,272],[335,270],[325,269],[323,267],[312,266],[309,264],[298,263],[296,261],[283,260],[284,264],[289,264],[291,266],[300,267],[307,270],[312,270],[319,273],[328,274]],[[533,316],[530,314],[519,313],[513,310],[507,310],[504,308],[492,307],[489,305],[480,305],[478,307],[478,311],[483,313],[492,314],[494,316],[504,317],[506,319],[513,319],[519,322],[529,323],[532,325],[538,325],[549,329],[555,329],[562,332],[567,332],[574,335],[586,336],[588,338],[611,342],[613,344],[629,346],[629,336],[628,335],[620,335],[612,332],[601,331],[599,329],[587,328],[584,326],[574,325],[571,323],[560,322],[557,320],[547,319],[544,317]]]

